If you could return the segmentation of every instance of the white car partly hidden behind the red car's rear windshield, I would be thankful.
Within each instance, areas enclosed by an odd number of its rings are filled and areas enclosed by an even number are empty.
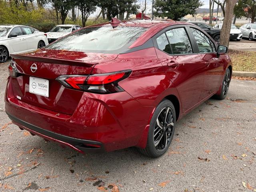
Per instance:
[[[76,31],[78,29],[81,29],[79,25],[57,25],[50,32],[47,32],[47,38],[48,42],[52,43],[56,41],[58,38],[66,36],[73,31]]]

